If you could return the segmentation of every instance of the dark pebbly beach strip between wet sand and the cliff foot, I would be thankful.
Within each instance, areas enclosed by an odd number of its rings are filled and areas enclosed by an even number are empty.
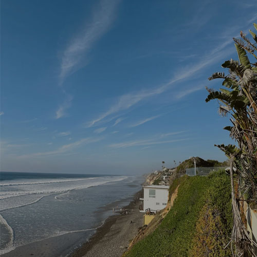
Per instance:
[[[118,257],[126,251],[128,245],[143,225],[143,214],[139,212],[141,191],[135,195],[136,201],[124,207],[128,214],[118,214],[108,217],[102,227],[75,251],[71,257]],[[132,223],[131,223],[132,221]]]

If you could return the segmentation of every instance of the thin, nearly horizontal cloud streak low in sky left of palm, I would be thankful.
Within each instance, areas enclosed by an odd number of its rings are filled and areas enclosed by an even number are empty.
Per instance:
[[[174,143],[178,141],[188,140],[187,138],[183,139],[175,139],[175,140],[166,140],[166,141],[153,141],[152,139],[146,140],[135,140],[135,141],[127,141],[123,143],[109,144],[109,148],[127,148],[132,146],[140,146],[140,145],[155,145],[155,144],[164,144],[164,143]]]

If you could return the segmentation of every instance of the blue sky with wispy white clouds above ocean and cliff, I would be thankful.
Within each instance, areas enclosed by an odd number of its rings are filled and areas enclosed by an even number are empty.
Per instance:
[[[233,143],[205,87],[256,1],[1,1],[1,170],[142,174]]]

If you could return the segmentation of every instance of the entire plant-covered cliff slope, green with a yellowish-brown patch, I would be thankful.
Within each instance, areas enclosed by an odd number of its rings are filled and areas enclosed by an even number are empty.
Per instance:
[[[174,205],[159,227],[124,256],[231,256],[230,249],[224,250],[232,228],[229,176],[222,171],[183,176],[173,182],[170,194],[178,185]]]

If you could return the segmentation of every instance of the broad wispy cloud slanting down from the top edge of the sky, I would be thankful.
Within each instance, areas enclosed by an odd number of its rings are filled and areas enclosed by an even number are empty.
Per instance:
[[[89,50],[111,27],[118,2],[118,0],[102,0],[94,11],[91,21],[71,40],[63,52],[60,84],[68,75],[84,66],[82,62],[86,63],[85,58]]]

